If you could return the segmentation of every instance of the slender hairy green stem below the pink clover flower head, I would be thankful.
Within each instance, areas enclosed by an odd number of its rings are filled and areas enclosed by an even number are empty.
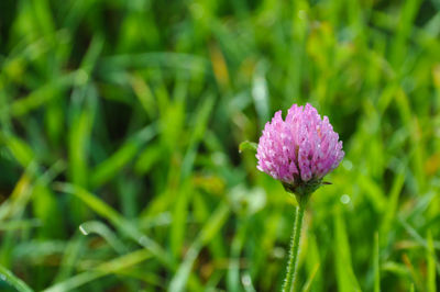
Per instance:
[[[301,237],[302,218],[305,210],[306,210],[306,204],[298,202],[295,215],[294,234],[292,235],[290,255],[287,263],[287,274],[283,284],[283,292],[290,292],[295,288],[295,280],[298,267],[299,238]]]

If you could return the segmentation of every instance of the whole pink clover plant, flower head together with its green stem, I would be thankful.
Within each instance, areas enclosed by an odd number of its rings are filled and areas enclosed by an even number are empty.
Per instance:
[[[267,122],[256,146],[257,169],[279,180],[298,202],[283,291],[293,291],[299,254],[302,217],[310,195],[323,177],[338,167],[344,151],[327,116],[307,103],[294,104],[285,120],[282,111]]]

